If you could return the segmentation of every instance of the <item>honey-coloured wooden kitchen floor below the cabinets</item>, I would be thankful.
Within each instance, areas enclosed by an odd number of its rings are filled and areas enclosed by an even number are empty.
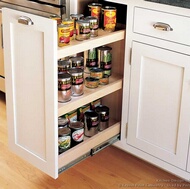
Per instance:
[[[6,124],[5,96],[0,92],[0,189],[190,188],[190,183],[115,147],[54,180],[9,151]]]

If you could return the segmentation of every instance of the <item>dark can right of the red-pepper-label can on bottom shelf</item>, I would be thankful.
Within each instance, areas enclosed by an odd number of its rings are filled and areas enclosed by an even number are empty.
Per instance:
[[[86,111],[84,114],[84,125],[85,136],[92,137],[97,134],[99,125],[98,114],[93,110]]]

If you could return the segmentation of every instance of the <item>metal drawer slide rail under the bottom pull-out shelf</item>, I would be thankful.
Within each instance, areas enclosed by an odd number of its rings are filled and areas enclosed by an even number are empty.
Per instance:
[[[75,159],[74,161],[70,162],[69,164],[61,167],[58,170],[58,173],[62,173],[64,171],[66,171],[67,169],[69,169],[70,167],[76,165],[77,163],[81,162],[82,160],[86,159],[89,156],[93,156],[95,154],[97,154],[98,152],[100,152],[101,150],[105,149],[106,147],[114,144],[115,142],[117,142],[118,140],[120,140],[120,134],[106,140],[105,142],[97,145],[96,147],[92,148],[89,152],[87,152],[86,154],[82,155],[81,157]]]

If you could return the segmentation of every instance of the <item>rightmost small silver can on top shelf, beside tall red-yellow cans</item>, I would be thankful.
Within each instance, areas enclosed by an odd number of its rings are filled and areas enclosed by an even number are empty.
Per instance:
[[[93,16],[87,16],[85,20],[90,22],[90,37],[98,36],[98,18]]]

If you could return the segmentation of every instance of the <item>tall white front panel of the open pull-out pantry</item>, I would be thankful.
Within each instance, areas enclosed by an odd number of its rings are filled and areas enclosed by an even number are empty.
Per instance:
[[[9,147],[57,178],[57,25],[7,8],[2,13]]]

